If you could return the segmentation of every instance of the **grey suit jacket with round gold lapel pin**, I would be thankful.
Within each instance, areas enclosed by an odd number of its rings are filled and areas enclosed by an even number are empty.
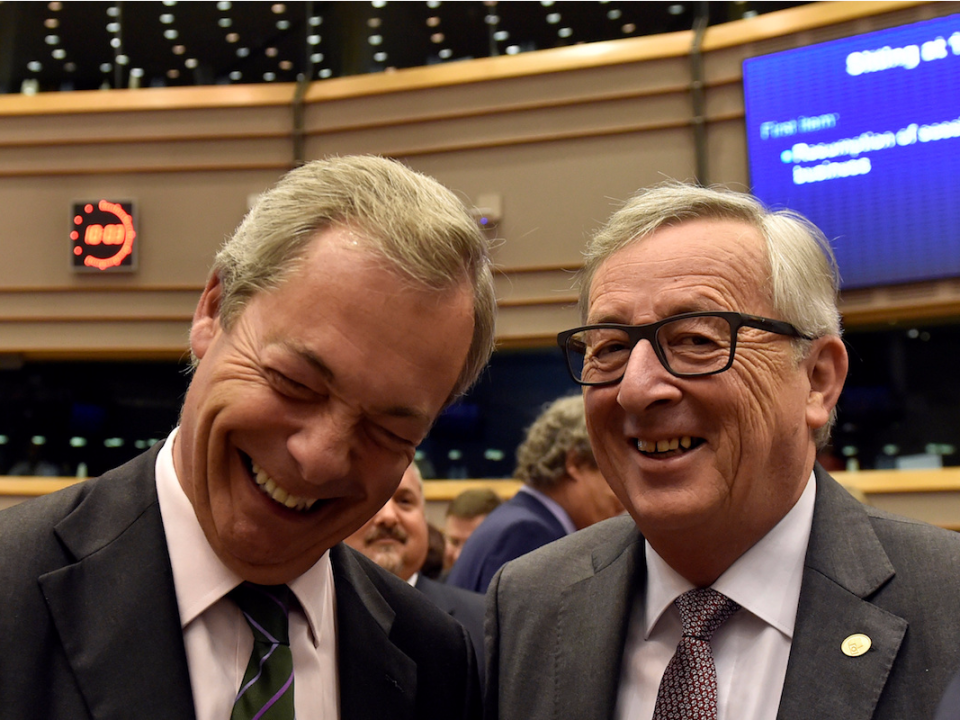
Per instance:
[[[960,665],[960,535],[861,505],[821,468],[779,720],[933,715]],[[629,517],[509,563],[487,593],[487,718],[613,715],[631,598]],[[841,652],[854,633],[872,648]]]

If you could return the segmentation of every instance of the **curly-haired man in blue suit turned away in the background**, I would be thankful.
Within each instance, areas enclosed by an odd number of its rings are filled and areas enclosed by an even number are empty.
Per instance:
[[[504,563],[623,512],[597,469],[580,395],[546,406],[517,448],[514,476],[523,487],[473,532],[448,585],[486,592]]]

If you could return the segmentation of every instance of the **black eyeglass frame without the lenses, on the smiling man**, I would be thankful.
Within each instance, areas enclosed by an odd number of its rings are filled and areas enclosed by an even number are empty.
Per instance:
[[[710,370],[709,372],[703,373],[677,372],[670,367],[666,357],[664,357],[663,348],[660,347],[660,342],[657,340],[657,332],[661,327],[669,323],[676,322],[677,320],[686,320],[688,318],[697,317],[718,317],[727,321],[727,323],[730,325],[730,356],[727,358],[727,363],[718,370]],[[570,363],[571,353],[567,348],[567,342],[577,333],[585,332],[587,330],[621,330],[627,335],[631,354],[641,340],[646,340],[650,343],[651,347],[653,347],[653,352],[656,354],[657,359],[660,361],[660,364],[663,366],[664,370],[674,377],[690,378],[717,375],[718,373],[729,370],[733,366],[733,359],[737,352],[737,337],[739,336],[740,328],[742,327],[752,327],[757,330],[764,330],[766,332],[774,333],[775,335],[785,335],[787,337],[797,338],[798,340],[816,339],[816,337],[813,335],[807,335],[800,332],[796,327],[784,320],[774,320],[772,318],[760,317],[759,315],[748,315],[746,313],[736,312],[733,310],[710,310],[704,312],[690,312],[681,313],[679,315],[671,315],[663,320],[646,323],[645,325],[624,325],[621,323],[595,323],[593,325],[583,325],[581,327],[573,328],[572,330],[564,330],[561,333],[557,333],[557,344],[560,346],[560,352],[563,353],[563,359],[567,365],[567,372],[570,374],[570,377],[573,378],[575,383],[585,387],[602,387],[604,385],[616,385],[618,382],[623,380],[624,376],[627,374],[627,365],[630,362],[629,356],[627,357],[627,362],[623,365],[623,373],[620,375],[620,377],[614,380],[604,380],[602,382],[585,382],[584,380],[577,378],[573,365]]]

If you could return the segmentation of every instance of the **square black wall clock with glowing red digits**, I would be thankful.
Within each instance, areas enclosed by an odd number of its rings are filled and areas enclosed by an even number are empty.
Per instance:
[[[70,244],[78,271],[130,271],[137,267],[133,203],[95,200],[73,204]]]

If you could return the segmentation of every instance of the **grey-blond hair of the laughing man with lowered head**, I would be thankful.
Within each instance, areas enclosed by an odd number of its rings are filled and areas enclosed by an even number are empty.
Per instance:
[[[372,155],[317,160],[263,193],[211,269],[223,288],[224,329],[253,296],[278,288],[317,233],[331,227],[350,228],[387,267],[419,286],[444,291],[470,283],[473,341],[448,402],[466,392],[494,348],[490,243],[453,192],[394,160]]]

